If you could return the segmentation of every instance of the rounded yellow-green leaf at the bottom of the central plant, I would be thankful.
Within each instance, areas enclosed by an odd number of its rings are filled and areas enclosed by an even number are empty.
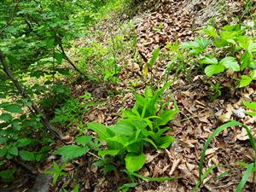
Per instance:
[[[125,156],[125,166],[129,172],[137,172],[143,168],[146,162],[145,154],[133,154],[129,153]]]

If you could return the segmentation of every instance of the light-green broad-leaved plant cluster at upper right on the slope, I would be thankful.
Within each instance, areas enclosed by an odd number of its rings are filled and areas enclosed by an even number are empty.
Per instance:
[[[236,77],[234,73],[242,73],[236,79],[238,87],[245,87],[256,79],[256,43],[253,37],[246,34],[244,27],[228,25],[217,30],[207,26],[201,33],[209,38],[196,38],[195,41],[181,44],[180,48],[196,56],[199,67],[205,68],[208,77],[224,71],[231,77]],[[207,48],[212,49],[212,54],[205,54]]]

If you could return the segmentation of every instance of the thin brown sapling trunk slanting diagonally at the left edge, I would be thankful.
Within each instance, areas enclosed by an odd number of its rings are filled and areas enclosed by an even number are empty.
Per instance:
[[[57,137],[58,139],[60,139],[61,141],[64,141],[64,136],[62,135],[62,133],[58,130],[55,129],[55,127],[53,125],[51,125],[49,123],[49,120],[46,119],[44,117],[44,114],[42,114],[40,112],[40,110],[38,109],[38,107],[35,105],[34,102],[32,102],[31,98],[29,96],[26,95],[26,92],[24,90],[24,88],[21,86],[20,82],[18,81],[18,79],[16,79],[14,77],[14,75],[11,73],[11,71],[9,70],[7,61],[5,60],[5,56],[3,55],[3,52],[0,50],[0,61],[2,63],[3,66],[3,72],[6,73],[6,75],[9,77],[9,79],[15,84],[15,87],[17,88],[17,90],[19,90],[20,95],[26,99],[28,102],[31,102],[32,105],[31,107],[28,107],[29,110],[37,116],[40,116],[40,122],[44,125],[44,127],[50,131],[52,134],[55,135],[55,137]]]

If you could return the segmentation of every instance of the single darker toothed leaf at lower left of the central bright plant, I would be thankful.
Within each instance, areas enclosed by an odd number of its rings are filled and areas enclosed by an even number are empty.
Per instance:
[[[89,151],[88,147],[79,147],[77,145],[67,145],[55,150],[54,154],[60,154],[63,160],[73,160],[77,157],[86,154]]]

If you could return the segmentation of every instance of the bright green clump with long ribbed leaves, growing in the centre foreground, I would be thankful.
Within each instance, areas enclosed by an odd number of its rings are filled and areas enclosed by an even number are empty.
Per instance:
[[[164,135],[170,128],[162,128],[179,112],[177,106],[165,109],[166,103],[159,107],[166,88],[167,85],[153,92],[147,87],[144,96],[136,95],[134,108],[123,111],[123,118],[115,125],[87,124],[90,130],[96,131],[101,141],[108,143],[108,149],[99,150],[102,158],[118,156],[122,163],[125,161],[128,172],[137,172],[145,164],[145,146],[168,148],[175,141],[173,137]]]

